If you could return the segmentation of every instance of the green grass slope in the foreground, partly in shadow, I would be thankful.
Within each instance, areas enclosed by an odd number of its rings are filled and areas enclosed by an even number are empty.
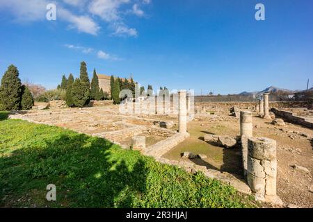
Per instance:
[[[105,139],[6,119],[0,112],[0,207],[253,207],[202,173],[160,164]],[[56,185],[56,201],[45,199]]]

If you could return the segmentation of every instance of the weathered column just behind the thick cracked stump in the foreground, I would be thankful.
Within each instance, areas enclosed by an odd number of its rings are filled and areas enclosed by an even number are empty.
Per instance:
[[[241,155],[245,178],[248,168],[248,138],[252,137],[252,129],[252,113],[250,111],[240,111]]]

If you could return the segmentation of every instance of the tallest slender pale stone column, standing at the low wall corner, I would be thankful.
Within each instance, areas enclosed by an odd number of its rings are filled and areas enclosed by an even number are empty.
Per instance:
[[[186,90],[178,91],[178,131],[187,133]]]

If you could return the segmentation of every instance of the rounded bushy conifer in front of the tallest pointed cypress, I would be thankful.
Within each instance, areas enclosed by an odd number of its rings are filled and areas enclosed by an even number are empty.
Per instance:
[[[81,80],[76,78],[71,91],[75,106],[83,107],[83,105],[86,105],[86,101],[88,101],[90,96],[89,92],[86,91],[86,83],[81,83]]]

